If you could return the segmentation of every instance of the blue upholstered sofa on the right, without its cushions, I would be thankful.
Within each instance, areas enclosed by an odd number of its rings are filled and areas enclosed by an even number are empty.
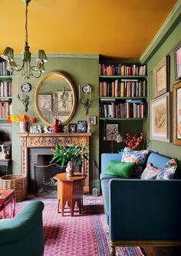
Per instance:
[[[101,155],[110,254],[116,254],[117,246],[181,246],[181,180],[123,179],[104,174],[110,160],[120,161],[121,157],[121,153]],[[161,168],[169,160],[152,152],[147,162]]]

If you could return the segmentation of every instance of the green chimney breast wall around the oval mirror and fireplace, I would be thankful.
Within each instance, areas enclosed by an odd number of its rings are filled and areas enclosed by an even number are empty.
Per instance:
[[[21,62],[20,57],[17,58],[17,62]],[[32,58],[32,64],[35,62],[35,58]],[[92,95],[92,106],[89,109],[89,113],[86,116],[85,109],[81,106],[81,103],[77,101],[77,107],[69,123],[77,123],[77,120],[87,120],[89,115],[98,116],[98,62],[99,56],[97,55],[84,55],[84,54],[49,54],[48,62],[44,65],[46,72],[39,79],[29,79],[27,82],[31,83],[30,101],[28,104],[28,116],[36,117],[37,122],[35,125],[41,125],[43,127],[45,124],[39,119],[38,113],[35,109],[35,88],[38,82],[46,75],[48,72],[59,71],[66,74],[71,81],[74,83],[76,93],[78,93],[78,86],[84,83],[89,83],[93,89]],[[17,85],[18,83],[24,83],[25,80],[21,77],[13,77],[13,113],[23,113],[25,114],[25,107],[17,98]],[[78,95],[77,95],[78,98]],[[19,147],[19,137],[17,133],[19,131],[18,123],[12,123],[12,163],[13,163],[13,173],[20,173],[20,147]],[[96,184],[98,190],[100,190],[99,183],[99,141],[98,141],[98,119],[97,125],[91,126],[91,161],[90,161],[90,181],[91,187]],[[93,160],[95,160],[95,180],[93,180]]]

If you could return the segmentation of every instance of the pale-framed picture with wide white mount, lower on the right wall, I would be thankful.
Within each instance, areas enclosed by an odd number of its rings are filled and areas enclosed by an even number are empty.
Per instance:
[[[169,142],[170,120],[169,106],[171,93],[165,93],[150,102],[150,139]]]

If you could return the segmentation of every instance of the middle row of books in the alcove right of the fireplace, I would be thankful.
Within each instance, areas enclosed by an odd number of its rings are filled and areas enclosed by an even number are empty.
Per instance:
[[[111,83],[100,82],[100,97],[141,97],[147,95],[146,80],[117,79]]]

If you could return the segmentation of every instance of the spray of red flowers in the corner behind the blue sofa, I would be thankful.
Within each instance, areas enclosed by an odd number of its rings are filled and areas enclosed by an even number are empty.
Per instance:
[[[140,143],[143,141],[143,138],[144,133],[140,133],[138,131],[133,136],[131,136],[130,133],[127,133],[126,137],[123,139],[123,143],[125,143],[131,150],[134,150],[140,145]]]

